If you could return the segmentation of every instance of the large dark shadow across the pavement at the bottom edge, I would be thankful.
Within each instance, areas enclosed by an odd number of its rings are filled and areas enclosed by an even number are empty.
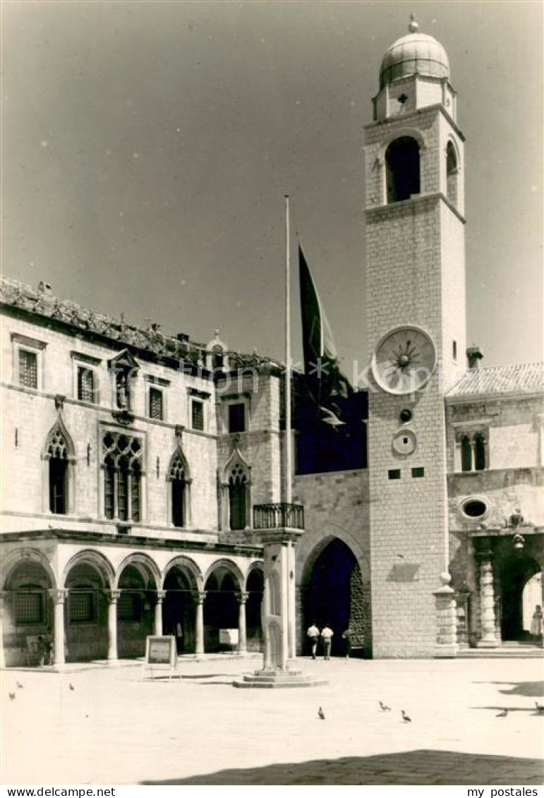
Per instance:
[[[406,751],[262,768],[140,784],[542,784],[544,762],[453,751]]]

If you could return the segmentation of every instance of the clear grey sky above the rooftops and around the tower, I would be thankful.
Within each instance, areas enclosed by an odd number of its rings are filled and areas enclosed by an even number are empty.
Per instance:
[[[363,126],[412,11],[447,50],[467,136],[467,343],[484,366],[542,359],[539,0],[4,0],[3,274],[282,358],[289,194],[358,373]],[[295,270],[291,318],[298,358]]]

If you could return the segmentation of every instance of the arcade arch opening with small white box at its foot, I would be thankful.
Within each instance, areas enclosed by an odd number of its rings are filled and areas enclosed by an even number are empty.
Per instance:
[[[219,630],[238,629],[240,585],[227,567],[219,566],[208,576],[204,591],[204,650],[219,651]]]

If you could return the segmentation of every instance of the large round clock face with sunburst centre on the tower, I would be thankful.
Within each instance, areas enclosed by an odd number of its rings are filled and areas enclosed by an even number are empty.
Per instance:
[[[436,366],[436,346],[420,327],[398,327],[381,339],[372,369],[388,393],[413,393],[428,382]]]

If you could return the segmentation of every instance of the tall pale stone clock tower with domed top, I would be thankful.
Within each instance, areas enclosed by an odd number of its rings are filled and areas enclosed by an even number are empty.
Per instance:
[[[447,53],[413,19],[365,127],[375,657],[432,656],[448,566],[444,395],[465,371],[463,133]]]

